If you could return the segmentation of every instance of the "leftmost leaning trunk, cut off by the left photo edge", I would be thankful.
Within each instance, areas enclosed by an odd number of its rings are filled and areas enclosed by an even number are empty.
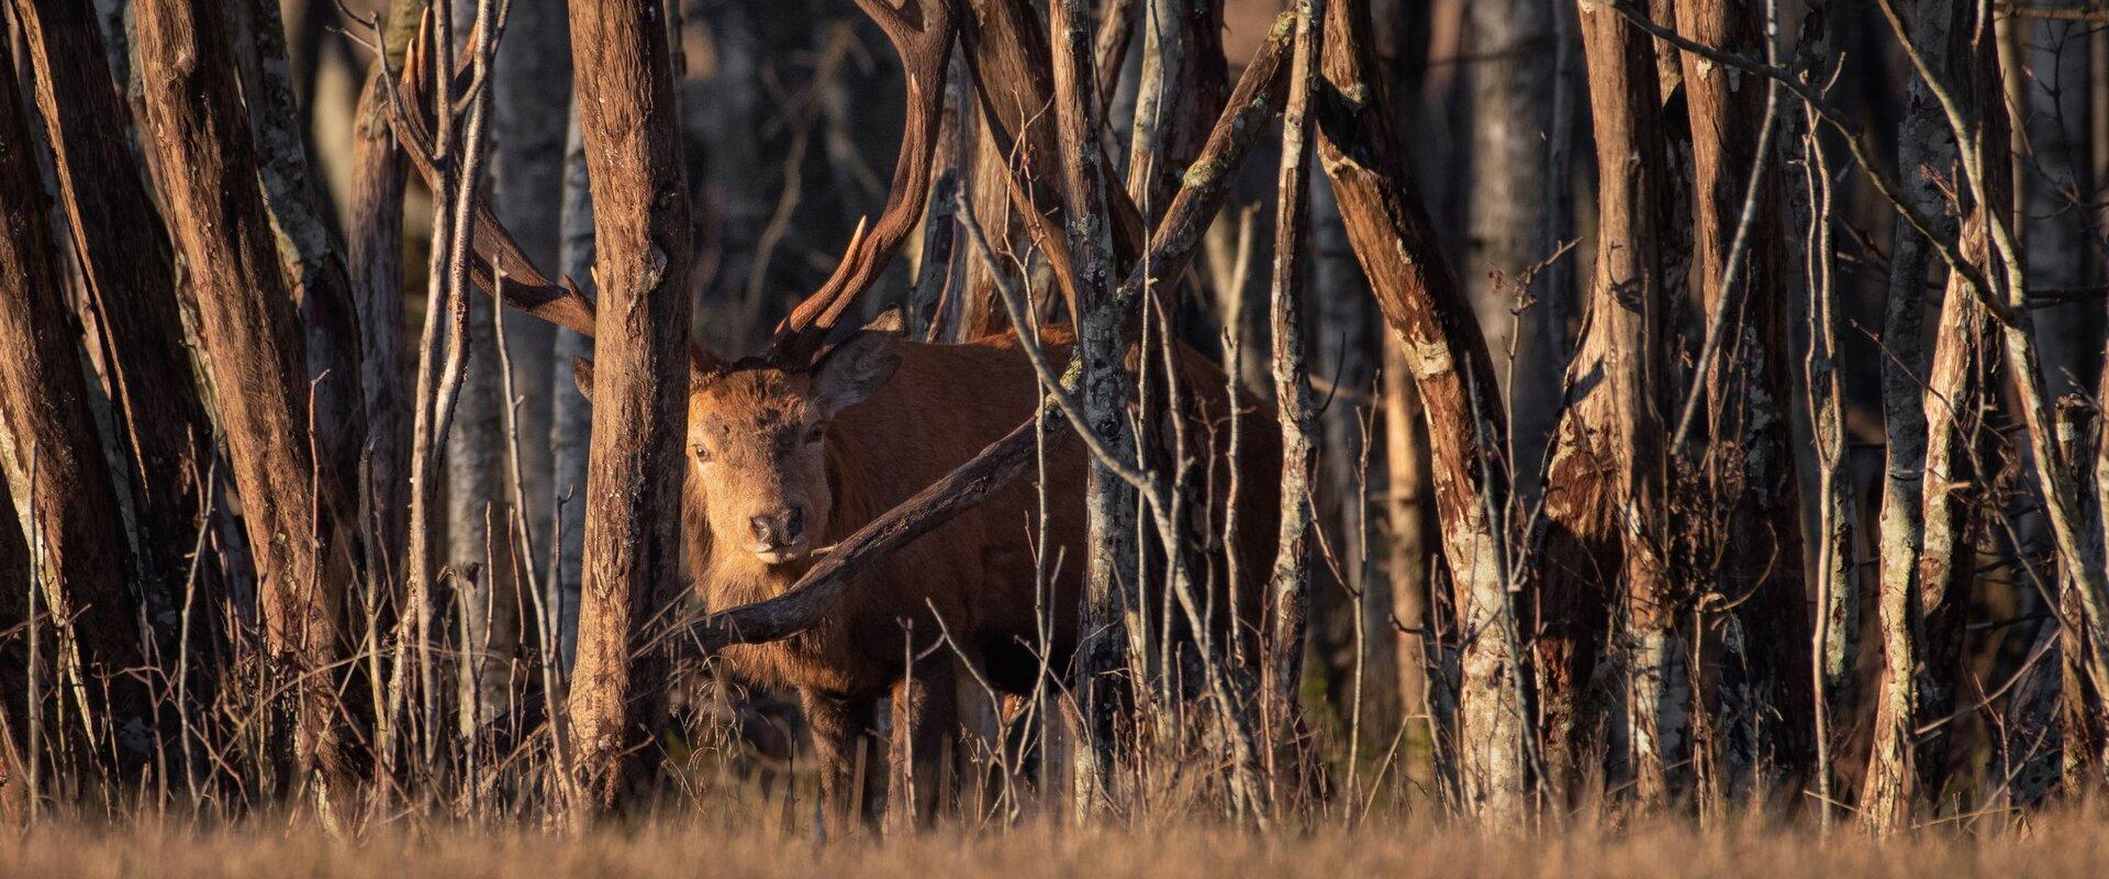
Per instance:
[[[89,413],[51,204],[19,97],[13,65],[0,65],[0,468],[11,512],[34,538],[30,573],[42,609],[59,620],[55,681],[72,706],[61,717],[82,723],[55,740],[82,748],[82,763],[116,757],[122,780],[154,750],[152,696],[124,675],[146,656],[139,599],[127,588],[137,567]]]

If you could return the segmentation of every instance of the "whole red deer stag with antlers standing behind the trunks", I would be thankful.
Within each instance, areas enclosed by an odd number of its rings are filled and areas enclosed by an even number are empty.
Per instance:
[[[1036,371],[1012,335],[932,346],[867,329],[833,346],[825,341],[917,221],[953,40],[945,0],[909,0],[905,8],[888,0],[858,4],[886,32],[907,74],[909,114],[886,209],[869,230],[858,228],[835,274],[785,318],[768,352],[725,363],[692,348],[685,559],[694,590],[711,609],[785,594],[827,546],[972,460],[1040,405]],[[394,122],[411,160],[428,169],[418,114],[396,114]],[[481,204],[475,245],[472,274],[481,287],[491,289],[502,268],[500,293],[508,306],[593,335],[593,301],[569,280],[550,282],[534,270]],[[1063,358],[1071,337],[1048,331],[1040,344]],[[1185,348],[1177,363],[1179,384],[1189,390],[1183,455],[1223,468],[1208,441],[1227,434],[1223,373]],[[580,390],[591,396],[593,367],[576,367]],[[1253,468],[1278,466],[1272,413],[1251,401],[1238,409],[1242,457]],[[1213,476],[1208,485],[1227,485],[1225,472]],[[941,759],[960,734],[953,656],[1010,696],[1033,689],[1042,653],[1052,668],[1067,666],[1080,624],[1084,481],[1084,451],[1076,443],[1054,447],[1044,474],[1048,546],[1040,552],[1038,495],[1031,485],[1012,483],[858,571],[816,626],[723,649],[734,677],[799,694],[835,822],[850,809],[869,818],[871,801],[850,799],[884,788],[873,740],[882,702],[892,702],[896,742],[915,755],[913,809],[928,816]],[[1242,485],[1246,540],[1238,546],[1238,569],[1263,575],[1274,554],[1278,481],[1246,472]],[[1036,594],[1040,584],[1048,586],[1046,603]],[[1251,620],[1261,582],[1238,584],[1238,594],[1249,599],[1236,605]],[[1230,605],[1211,601],[1219,611]],[[1050,639],[1042,637],[1042,620]],[[951,634],[957,653],[930,651],[941,632]],[[911,653],[926,658],[909,668]]]

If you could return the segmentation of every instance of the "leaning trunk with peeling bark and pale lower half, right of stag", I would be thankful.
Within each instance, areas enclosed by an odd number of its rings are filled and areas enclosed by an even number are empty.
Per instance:
[[[1518,824],[1535,755],[1523,700],[1529,666],[1508,594],[1508,481],[1495,445],[1504,415],[1493,365],[1392,129],[1367,6],[1327,8],[1320,65],[1331,93],[1320,105],[1318,158],[1371,295],[1405,344],[1428,419],[1462,632],[1455,740],[1464,805],[1489,822]]]

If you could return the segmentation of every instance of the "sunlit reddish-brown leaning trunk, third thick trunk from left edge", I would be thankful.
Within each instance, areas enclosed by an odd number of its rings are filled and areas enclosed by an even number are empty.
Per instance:
[[[331,670],[344,647],[337,622],[352,578],[350,535],[340,527],[335,472],[308,445],[299,316],[278,274],[226,21],[217,4],[198,0],[139,0],[137,15],[143,141],[160,156],[169,226],[198,299],[198,335],[259,575],[264,639],[297,704],[295,769],[335,784],[350,769]]]

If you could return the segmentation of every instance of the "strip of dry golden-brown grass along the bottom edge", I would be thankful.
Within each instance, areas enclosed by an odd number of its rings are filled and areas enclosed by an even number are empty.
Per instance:
[[[1997,820],[1997,818],[1991,818]],[[1987,826],[1963,822],[1873,841],[1850,824],[1700,828],[1664,822],[1485,835],[1373,820],[1301,831],[1208,826],[932,831],[818,843],[711,818],[660,818],[580,835],[487,826],[380,831],[340,841],[299,822],[217,828],[44,824],[0,835],[0,875],[19,877],[2103,877],[2101,814]]]

